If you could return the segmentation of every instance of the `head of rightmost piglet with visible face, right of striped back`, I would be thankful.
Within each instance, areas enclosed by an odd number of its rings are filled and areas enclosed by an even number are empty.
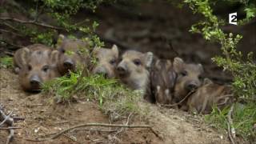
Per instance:
[[[174,87],[174,101],[181,102],[190,91],[202,85],[203,69],[201,64],[187,64],[182,58],[174,58],[174,70],[178,74]],[[186,99],[181,106],[186,106]],[[182,109],[186,110],[186,107]]]

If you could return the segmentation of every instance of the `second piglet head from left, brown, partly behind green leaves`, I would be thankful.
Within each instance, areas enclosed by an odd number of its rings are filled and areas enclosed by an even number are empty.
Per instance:
[[[65,38],[62,34],[58,39],[58,71],[64,75],[75,71],[78,66],[86,66],[89,55],[89,44],[78,39]],[[82,52],[84,51],[84,52]],[[68,65],[66,62],[69,62]]]

